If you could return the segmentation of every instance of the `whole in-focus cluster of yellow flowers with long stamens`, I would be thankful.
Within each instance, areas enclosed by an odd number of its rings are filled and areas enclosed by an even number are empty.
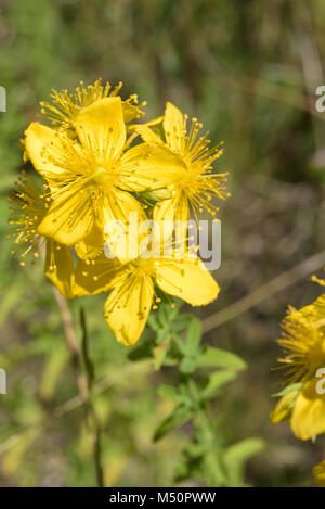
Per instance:
[[[105,320],[118,341],[132,345],[161,298],[200,306],[219,293],[188,246],[187,227],[183,242],[174,242],[172,228],[148,255],[141,225],[186,225],[204,209],[216,217],[214,199],[229,194],[227,174],[212,170],[222,147],[209,147],[197,119],[187,129],[187,117],[167,103],[164,116],[141,124],[145,103],[136,96],[123,101],[120,87],[81,82],[41,103],[51,126],[31,123],[23,140],[24,161],[38,176],[18,178],[10,222],[21,264],[30,252],[44,253],[46,276],[68,298],[109,292]],[[121,230],[129,243],[136,237],[136,256],[121,250]],[[172,249],[162,256],[157,246],[167,243]]]

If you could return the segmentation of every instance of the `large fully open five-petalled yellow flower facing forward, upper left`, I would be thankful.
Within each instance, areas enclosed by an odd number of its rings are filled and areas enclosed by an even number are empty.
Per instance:
[[[136,220],[145,220],[141,204],[127,191],[164,187],[177,158],[165,148],[145,143],[127,150],[132,137],[127,140],[118,97],[82,110],[75,127],[80,142],[37,123],[26,131],[26,151],[52,200],[38,229],[65,245],[95,240],[94,249],[103,249],[107,221],[128,225],[131,212],[138,213]]]

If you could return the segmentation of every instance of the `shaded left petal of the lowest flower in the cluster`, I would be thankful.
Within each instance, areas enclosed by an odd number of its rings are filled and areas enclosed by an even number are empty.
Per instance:
[[[108,259],[102,253],[92,260],[80,259],[76,268],[78,295],[94,295],[107,292],[128,276],[128,267],[117,258]]]

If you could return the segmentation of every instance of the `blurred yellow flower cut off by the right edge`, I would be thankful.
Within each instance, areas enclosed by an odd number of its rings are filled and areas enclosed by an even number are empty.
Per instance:
[[[325,433],[325,394],[318,390],[318,368],[325,368],[325,295],[296,310],[283,322],[284,336],[278,340],[285,356],[292,391],[285,394],[271,413],[273,423],[289,420],[294,434],[310,440]],[[297,389],[296,389],[297,387]]]

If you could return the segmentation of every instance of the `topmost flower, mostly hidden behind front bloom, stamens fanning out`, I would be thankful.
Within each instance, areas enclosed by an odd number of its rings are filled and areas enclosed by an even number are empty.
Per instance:
[[[98,79],[93,85],[89,85],[87,88],[83,86],[83,81],[80,81],[80,87],[77,87],[74,93],[69,93],[67,90],[62,90],[61,92],[52,90],[52,103],[47,101],[40,102],[41,115],[51,120],[54,126],[74,129],[75,122],[84,107],[102,99],[116,97],[121,87],[122,82],[120,81],[112,90],[108,81],[102,85],[102,80]],[[145,101],[138,104],[138,96],[135,93],[130,96],[126,101],[122,101],[125,123],[127,124],[143,116],[144,113],[141,109],[145,105]]]

